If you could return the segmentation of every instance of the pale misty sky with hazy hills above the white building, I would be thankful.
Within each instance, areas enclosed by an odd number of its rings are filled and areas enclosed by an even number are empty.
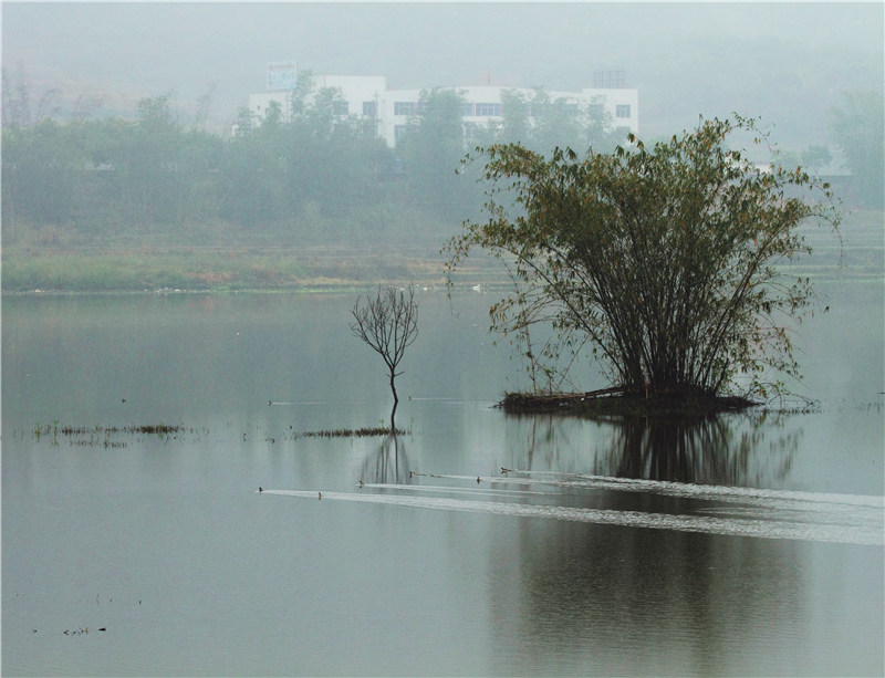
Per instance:
[[[269,61],[386,75],[391,87],[577,90],[623,67],[642,136],[737,111],[781,138],[824,143],[844,91],[882,90],[883,3],[40,3],[3,2],[3,67],[32,100],[58,88],[126,113],[211,92],[223,128],[264,90]],[[64,106],[63,106],[64,107]],[[775,135],[778,136],[778,135]],[[775,139],[777,140],[777,139]]]

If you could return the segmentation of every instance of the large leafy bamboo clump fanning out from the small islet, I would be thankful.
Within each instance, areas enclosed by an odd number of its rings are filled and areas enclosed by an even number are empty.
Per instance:
[[[486,221],[449,246],[451,274],[475,248],[512,269],[520,286],[490,310],[492,326],[551,322],[561,347],[590,344],[612,383],[649,396],[766,395],[768,369],[799,376],[790,323],[811,309],[809,279],[778,263],[810,251],[796,231],[839,215],[826,185],[801,170],[758,171],[728,150],[754,121],[706,121],[652,150],[492,146]],[[795,189],[815,189],[805,201]],[[808,194],[802,194],[803,197]]]

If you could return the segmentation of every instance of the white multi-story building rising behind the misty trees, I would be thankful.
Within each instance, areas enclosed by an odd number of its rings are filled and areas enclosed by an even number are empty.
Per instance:
[[[272,67],[272,66],[271,66]],[[287,83],[294,84],[294,77]],[[271,77],[268,77],[269,86]],[[608,84],[608,83],[606,83]],[[399,134],[409,119],[418,113],[421,90],[388,90],[387,79],[375,75],[314,75],[314,93],[324,87],[336,88],[342,98],[341,115],[357,115],[375,122],[378,136],[391,147],[396,146]],[[501,94],[521,94],[527,101],[535,95],[534,90],[499,87],[492,85],[442,87],[458,92],[462,97],[461,119],[465,127],[489,125],[503,119]],[[639,131],[639,95],[636,90],[626,87],[587,87],[580,92],[545,92],[551,103],[566,106],[603,106],[613,126]],[[291,90],[280,88],[249,96],[249,109],[258,119],[267,115],[268,107],[277,102],[283,118],[291,116]]]

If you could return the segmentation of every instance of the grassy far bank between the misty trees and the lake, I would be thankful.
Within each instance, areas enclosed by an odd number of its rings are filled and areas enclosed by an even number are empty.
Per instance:
[[[196,233],[196,234],[195,234]],[[826,278],[881,279],[885,259],[883,213],[845,216],[843,241],[830,232],[806,229],[811,258],[802,258],[791,273]],[[139,238],[84,238],[70,230],[21,230],[13,242],[4,239],[2,291],[154,292],[160,290],[293,291],[366,288],[378,283],[436,285],[445,282],[445,238],[400,241],[398,244],[281,246],[282,238],[263,241],[204,230],[188,238],[160,238],[146,231]],[[464,284],[507,283],[500,264],[485,255],[461,265]]]

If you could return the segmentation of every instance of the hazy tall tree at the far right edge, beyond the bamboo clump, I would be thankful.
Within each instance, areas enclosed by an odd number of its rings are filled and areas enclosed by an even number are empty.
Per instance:
[[[878,92],[846,92],[830,109],[830,132],[866,207],[885,209],[885,100]]]

